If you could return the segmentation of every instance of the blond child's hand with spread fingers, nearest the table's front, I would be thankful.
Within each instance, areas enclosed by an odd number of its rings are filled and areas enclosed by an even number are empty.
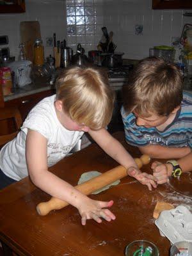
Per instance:
[[[81,205],[78,208],[79,213],[81,214],[81,224],[86,225],[86,220],[90,219],[97,221],[97,223],[102,222],[101,218],[106,221],[115,220],[115,215],[106,209],[112,205],[113,200],[109,202],[102,202],[88,198],[86,202],[81,202]]]

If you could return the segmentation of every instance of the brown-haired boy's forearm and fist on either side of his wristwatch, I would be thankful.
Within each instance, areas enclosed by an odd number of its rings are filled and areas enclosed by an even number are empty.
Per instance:
[[[173,157],[175,159],[175,157]],[[187,156],[181,157],[177,160],[177,163],[180,165],[182,172],[190,172],[192,170],[192,152]],[[154,172],[154,177],[156,177],[157,184],[163,184],[168,181],[168,177],[172,175],[173,166],[169,163],[160,163],[154,162],[152,163],[152,169]]]

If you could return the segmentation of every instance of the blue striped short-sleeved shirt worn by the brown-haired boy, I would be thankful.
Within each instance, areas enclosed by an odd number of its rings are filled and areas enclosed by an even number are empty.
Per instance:
[[[126,115],[124,107],[121,109],[124,122],[125,139],[127,143],[143,147],[149,144],[158,144],[167,147],[192,148],[192,94],[183,93],[181,108],[171,124],[164,131],[156,127],[146,128],[136,125],[136,116],[133,113]]]

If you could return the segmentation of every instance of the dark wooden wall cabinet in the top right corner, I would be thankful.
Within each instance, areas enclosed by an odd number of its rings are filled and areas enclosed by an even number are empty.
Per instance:
[[[152,0],[153,9],[192,9],[192,0]]]

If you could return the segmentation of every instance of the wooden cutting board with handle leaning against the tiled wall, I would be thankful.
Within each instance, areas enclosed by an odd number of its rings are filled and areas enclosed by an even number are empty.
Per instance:
[[[33,45],[37,38],[41,37],[40,24],[38,21],[20,22],[20,42],[26,48],[26,58],[33,62]]]

